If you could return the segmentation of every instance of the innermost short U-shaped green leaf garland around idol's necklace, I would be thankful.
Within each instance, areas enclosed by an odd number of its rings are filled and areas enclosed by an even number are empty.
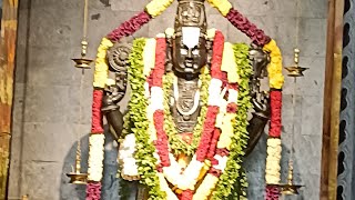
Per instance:
[[[207,98],[209,98],[209,86],[211,81],[211,76],[209,71],[204,68],[202,70],[202,73],[200,74],[200,80],[202,81],[202,87],[201,87],[201,111],[200,116],[197,118],[197,123],[194,128],[193,131],[193,140],[192,143],[189,144],[185,141],[182,140],[181,137],[179,137],[176,126],[174,124],[173,117],[171,114],[170,106],[169,106],[169,100],[170,100],[170,92],[171,87],[173,84],[174,80],[174,73],[168,73],[163,77],[163,90],[164,90],[164,130],[166,130],[168,137],[169,137],[169,143],[170,148],[172,149],[174,154],[181,154],[184,153],[186,156],[193,156],[200,139],[202,134],[202,128],[203,128],[203,122],[205,120],[206,113],[207,113]]]

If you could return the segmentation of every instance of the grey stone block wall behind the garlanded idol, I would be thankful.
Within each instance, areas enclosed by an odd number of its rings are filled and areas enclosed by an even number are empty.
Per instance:
[[[68,184],[67,172],[74,164],[77,140],[82,142],[87,170],[88,134],[93,69],[84,74],[80,106],[80,70],[71,58],[80,56],[83,0],[20,1],[17,51],[10,199],[29,194],[32,200],[83,199],[84,187]],[[89,57],[94,58],[100,40],[113,28],[141,11],[148,0],[90,0]],[[322,148],[322,109],[325,66],[326,0],[233,0],[251,21],[274,38],[283,51],[284,64],[293,63],[296,16],[300,12],[301,64],[311,68],[295,89],[295,181],[305,184],[292,199],[318,199]],[[173,27],[176,4],[144,26],[134,37],[154,37]],[[210,28],[217,28],[227,41],[250,42],[219,12],[206,6]],[[286,78],[283,111],[283,180],[292,134],[293,79]],[[80,110],[82,118],[80,119]],[[248,198],[263,199],[266,137],[247,158]],[[105,143],[104,200],[118,199],[116,144]]]

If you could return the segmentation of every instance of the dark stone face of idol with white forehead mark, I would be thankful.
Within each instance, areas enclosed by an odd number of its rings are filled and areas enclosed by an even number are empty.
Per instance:
[[[181,74],[199,74],[206,64],[206,40],[200,28],[186,27],[173,39],[173,69]]]

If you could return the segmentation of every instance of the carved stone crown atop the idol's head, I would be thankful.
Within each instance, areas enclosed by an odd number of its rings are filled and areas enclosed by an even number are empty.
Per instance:
[[[207,22],[204,8],[205,0],[178,0],[175,18],[175,32],[182,31],[182,27],[199,27],[201,33],[206,33]]]

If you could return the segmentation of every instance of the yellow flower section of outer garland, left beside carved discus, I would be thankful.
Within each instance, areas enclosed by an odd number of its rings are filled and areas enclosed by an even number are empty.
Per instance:
[[[94,88],[104,88],[108,81],[109,66],[106,62],[108,50],[113,46],[113,43],[106,39],[102,38],[101,44],[98,48],[98,54],[95,60],[95,72],[93,77]]]

